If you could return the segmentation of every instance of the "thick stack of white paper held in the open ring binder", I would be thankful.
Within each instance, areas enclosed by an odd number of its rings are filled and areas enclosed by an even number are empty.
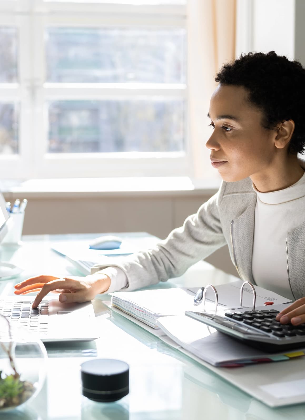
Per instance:
[[[234,281],[217,286],[218,310],[239,309],[240,287],[242,281]],[[195,306],[193,298],[200,287],[172,289],[143,290],[131,292],[110,293],[111,303],[118,309],[137,318],[152,328],[160,328],[156,320],[160,317],[170,315],[184,315],[185,311],[203,312],[203,302]],[[255,286],[256,305],[263,306],[266,301],[273,301],[274,304],[290,302],[289,299],[282,297],[262,287]],[[215,295],[211,288],[206,292],[205,310],[213,312],[215,310]],[[252,307],[252,289],[247,285],[244,287],[243,307]]]

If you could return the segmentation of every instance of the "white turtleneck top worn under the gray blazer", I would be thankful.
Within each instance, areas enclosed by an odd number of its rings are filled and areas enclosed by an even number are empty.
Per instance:
[[[252,276],[258,286],[294,300],[287,271],[287,233],[305,220],[305,173],[288,188],[257,193]]]

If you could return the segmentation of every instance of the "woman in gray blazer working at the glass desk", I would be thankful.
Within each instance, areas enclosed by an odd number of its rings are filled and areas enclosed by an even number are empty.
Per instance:
[[[305,69],[273,51],[249,53],[215,80],[206,147],[223,179],[217,194],[154,249],[87,277],[29,278],[15,294],[38,291],[33,307],[49,291],[84,302],[181,276],[227,243],[242,279],[298,299],[277,319],[305,322]]]

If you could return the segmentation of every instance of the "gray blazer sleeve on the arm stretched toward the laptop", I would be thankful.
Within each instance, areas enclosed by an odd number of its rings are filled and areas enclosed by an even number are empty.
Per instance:
[[[191,265],[226,244],[218,213],[223,189],[222,184],[218,192],[197,213],[189,216],[183,226],[174,229],[154,248],[121,259],[111,258],[107,264],[95,265],[91,274],[110,265],[121,268],[126,273],[128,282],[122,289],[124,291],[181,276]]]

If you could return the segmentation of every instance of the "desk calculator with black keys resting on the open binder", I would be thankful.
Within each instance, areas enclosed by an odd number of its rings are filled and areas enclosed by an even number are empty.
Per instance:
[[[305,324],[281,324],[276,315],[289,304],[250,308],[236,311],[211,312],[187,311],[185,315],[199,320],[216,330],[257,347],[266,352],[281,352],[305,348]]]

